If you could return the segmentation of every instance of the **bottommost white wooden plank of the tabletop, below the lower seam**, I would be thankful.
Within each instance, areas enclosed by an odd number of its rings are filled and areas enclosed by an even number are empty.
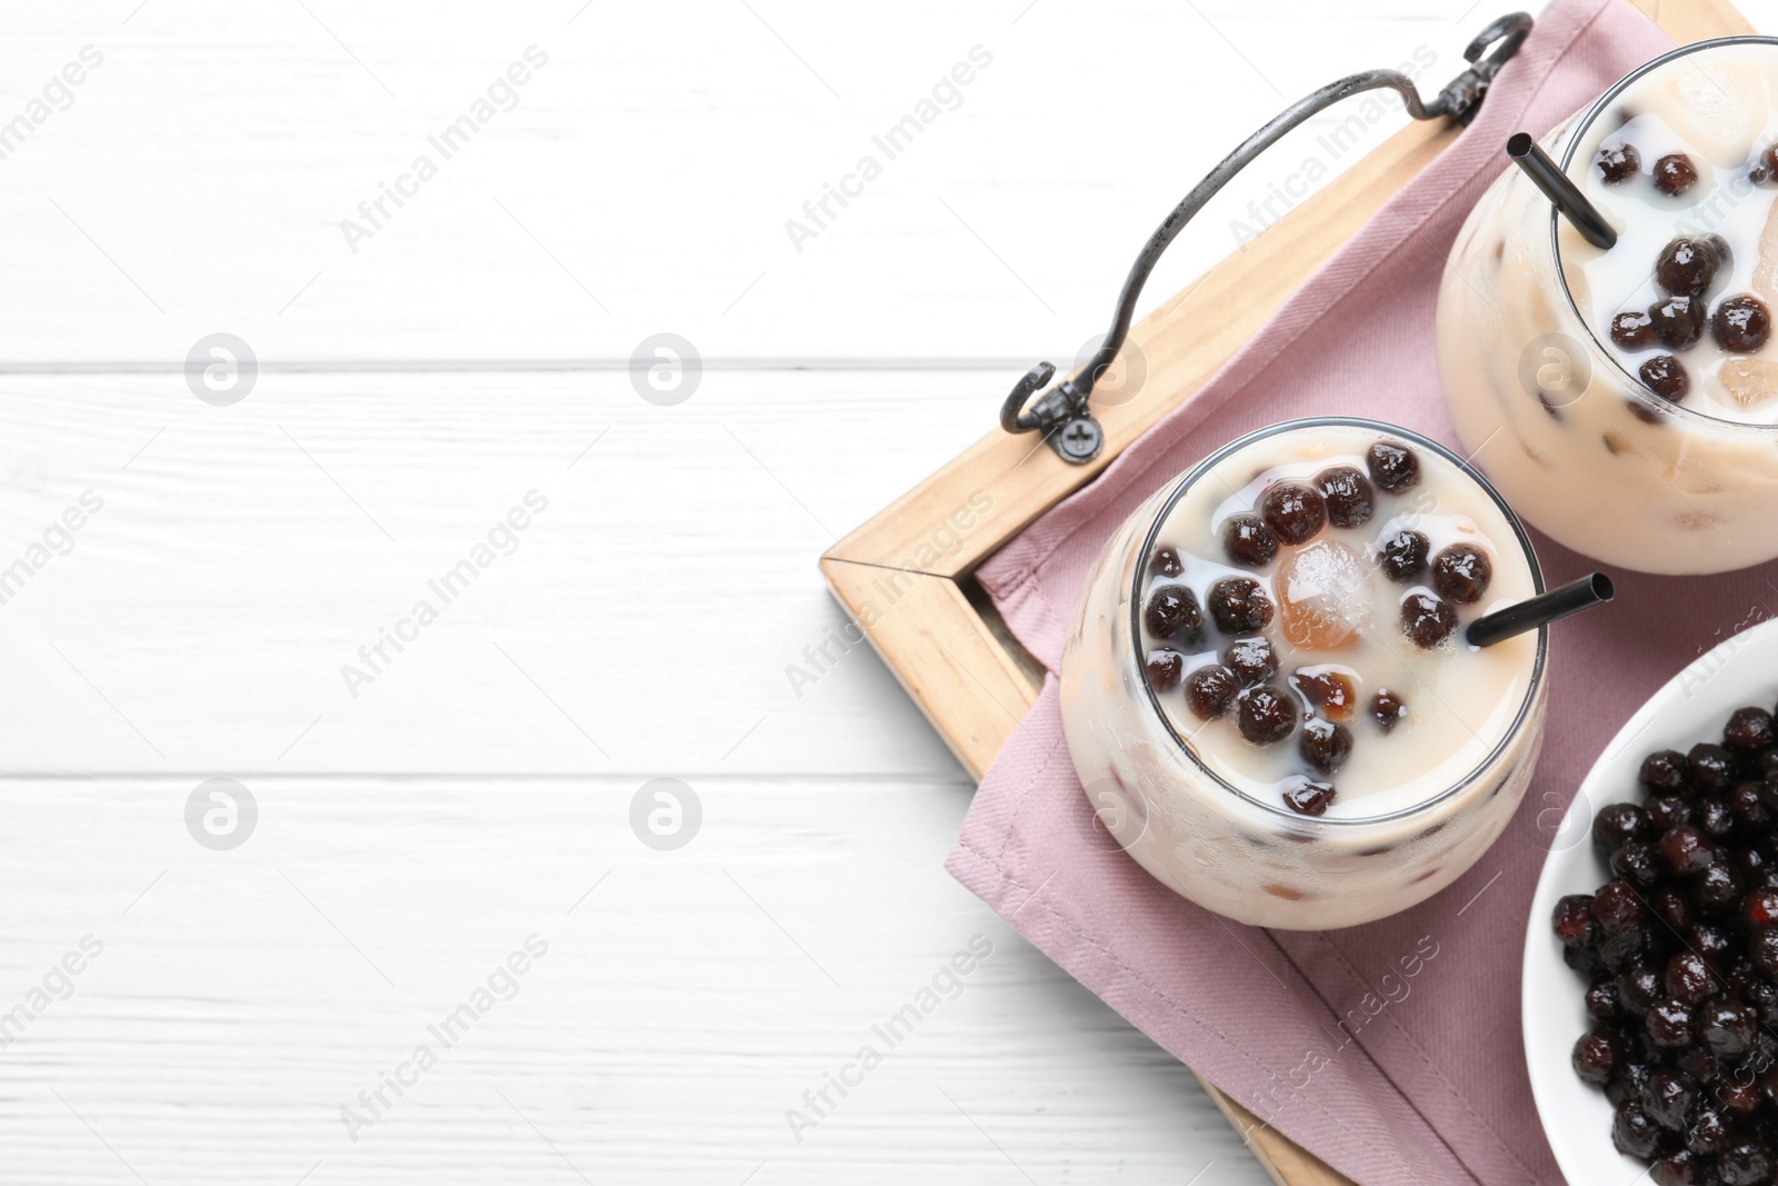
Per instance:
[[[958,891],[958,779],[692,782],[704,823],[676,852],[631,834],[637,781],[332,775],[254,781],[254,834],[210,852],[190,784],[5,781],[30,843],[0,864],[28,903],[0,1012],[82,935],[103,951],[0,1035],[0,1177],[578,1184],[567,1158],[674,1186],[1261,1179],[1177,1060]],[[548,953],[439,1049],[427,1026],[533,934]],[[786,1111],[973,935],[994,950],[962,992],[798,1142]],[[341,1106],[421,1042],[437,1065],[354,1142]]]

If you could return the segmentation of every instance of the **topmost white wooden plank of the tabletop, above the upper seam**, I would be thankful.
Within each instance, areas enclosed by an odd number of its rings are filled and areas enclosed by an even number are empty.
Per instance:
[[[4,117],[84,44],[105,64],[0,162],[0,361],[176,365],[217,331],[283,361],[626,359],[658,331],[711,359],[1072,352],[1186,162],[1300,78],[1424,48],[1442,82],[1486,20],[1465,5],[44,5],[0,46]],[[530,44],[549,64],[441,160],[428,137]],[[976,44],[992,66],[887,160],[873,137]],[[359,203],[421,153],[437,176],[348,245],[341,222],[370,226]],[[882,176],[793,242],[866,153]]]

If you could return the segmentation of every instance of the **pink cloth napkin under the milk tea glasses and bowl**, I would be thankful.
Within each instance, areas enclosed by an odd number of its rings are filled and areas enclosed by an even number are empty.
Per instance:
[[[1545,12],[1474,126],[1197,398],[981,569],[1019,640],[1054,670],[1101,544],[1143,498],[1236,436],[1350,413],[1454,446],[1433,309],[1465,213],[1506,167],[1508,135],[1545,133],[1670,46],[1622,0],[1561,0]],[[1595,567],[1534,542],[1550,585]],[[1156,1042],[1353,1181],[1561,1182],[1518,1030],[1526,910],[1549,846],[1536,816],[1566,805],[1662,681],[1734,624],[1771,613],[1774,571],[1613,573],[1616,605],[1563,622],[1552,644],[1549,734],[1518,820],[1467,877],[1406,914],[1326,934],[1257,930],[1095,846],[1054,677],[983,781],[948,868]]]

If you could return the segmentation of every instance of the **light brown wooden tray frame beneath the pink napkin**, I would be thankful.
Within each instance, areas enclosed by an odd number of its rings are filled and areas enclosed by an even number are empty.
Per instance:
[[[1678,44],[1753,32],[1728,0],[1630,4]],[[1307,80],[1305,89],[1314,82],[1319,80]],[[981,779],[1044,685],[1042,665],[1006,629],[974,580],[976,567],[1197,395],[1289,295],[1456,135],[1449,121],[1403,128],[1250,240],[1239,256],[1229,256],[1143,318],[1131,331],[1131,341],[1147,361],[1147,381],[1129,402],[1093,405],[1106,434],[1104,450],[1093,462],[1072,466],[1035,434],[994,430],[821,557],[821,573],[834,596],[859,621],[971,777]],[[1170,194],[1157,196],[1156,210],[1170,199]],[[1133,235],[1147,229],[1131,228]],[[1108,276],[1124,263],[1108,260]],[[1008,373],[1005,384],[983,389],[983,421],[992,421],[1015,377]],[[990,500],[987,510],[980,510],[983,494]],[[960,533],[948,521],[965,509],[974,521]],[[962,546],[921,564],[919,557],[933,551],[930,541],[941,532],[962,535]],[[891,581],[901,590],[896,612],[866,612],[882,596],[880,587]],[[1280,1186],[1351,1186],[1209,1083],[1204,1088],[1246,1134],[1248,1149]]]

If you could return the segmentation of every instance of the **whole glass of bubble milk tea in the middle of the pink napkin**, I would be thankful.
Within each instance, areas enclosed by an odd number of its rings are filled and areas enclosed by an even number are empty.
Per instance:
[[[1367,420],[1264,429],[1099,555],[1061,658],[1076,772],[1202,907],[1289,930],[1394,914],[1456,880],[1531,781],[1547,626],[1465,631],[1538,594],[1513,512],[1442,446]]]

